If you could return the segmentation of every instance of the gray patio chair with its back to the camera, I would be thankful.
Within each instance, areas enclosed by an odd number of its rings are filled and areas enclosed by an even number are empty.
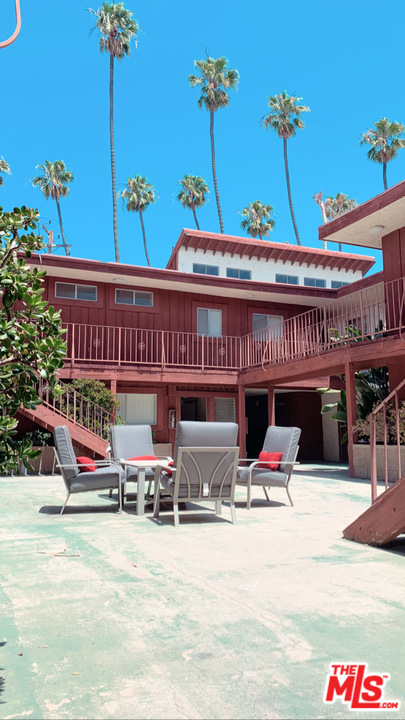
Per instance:
[[[161,485],[173,500],[174,525],[180,502],[214,502],[215,512],[227,501],[235,516],[235,480],[239,457],[236,423],[188,422],[177,425],[173,466],[155,470],[154,517],[159,517]]]

